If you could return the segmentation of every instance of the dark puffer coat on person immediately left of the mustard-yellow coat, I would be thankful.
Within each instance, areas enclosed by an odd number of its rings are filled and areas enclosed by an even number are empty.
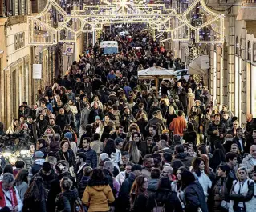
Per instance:
[[[74,203],[77,198],[77,190],[68,190],[58,194],[55,201],[56,212],[75,212]]]

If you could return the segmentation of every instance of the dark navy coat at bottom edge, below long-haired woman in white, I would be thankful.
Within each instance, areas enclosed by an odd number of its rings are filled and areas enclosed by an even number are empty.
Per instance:
[[[198,182],[189,184],[184,190],[184,196],[185,212],[197,212],[198,208],[202,212],[208,212],[204,190]]]

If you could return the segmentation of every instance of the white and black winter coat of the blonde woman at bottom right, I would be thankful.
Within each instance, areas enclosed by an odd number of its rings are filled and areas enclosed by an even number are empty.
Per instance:
[[[240,206],[239,202],[244,202],[242,203],[242,206],[246,206],[247,212],[254,211],[255,201],[251,201],[253,196],[254,196],[253,180],[246,179],[244,182],[242,182],[242,185],[240,185],[240,182],[235,180],[233,182],[233,187],[229,195],[229,198],[230,198],[229,212],[234,212],[235,209],[238,206]]]

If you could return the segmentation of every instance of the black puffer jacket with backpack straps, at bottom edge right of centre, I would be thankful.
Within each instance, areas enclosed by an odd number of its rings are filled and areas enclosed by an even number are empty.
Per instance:
[[[158,189],[149,195],[147,211],[152,211],[154,207],[164,206],[168,212],[182,212],[181,202],[177,198],[176,192],[169,189]]]

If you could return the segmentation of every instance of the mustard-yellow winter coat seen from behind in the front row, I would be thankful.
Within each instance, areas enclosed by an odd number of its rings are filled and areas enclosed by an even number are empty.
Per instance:
[[[111,187],[108,185],[108,178],[103,181],[89,179],[84,190],[82,202],[88,206],[88,212],[108,211],[108,203],[115,201]]]

